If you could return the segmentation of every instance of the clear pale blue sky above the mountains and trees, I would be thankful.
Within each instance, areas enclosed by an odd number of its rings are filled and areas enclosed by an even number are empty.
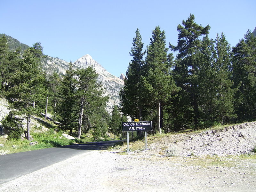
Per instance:
[[[137,28],[149,44],[152,30],[165,31],[167,46],[177,44],[177,25],[195,15],[197,24],[211,26],[209,36],[223,32],[235,46],[256,27],[255,0],[0,0],[0,33],[66,61],[90,54],[115,76],[125,74]]]

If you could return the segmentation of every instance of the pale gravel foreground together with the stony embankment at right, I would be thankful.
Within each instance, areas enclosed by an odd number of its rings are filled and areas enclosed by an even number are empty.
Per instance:
[[[255,146],[255,125],[152,138],[149,150],[126,155],[84,153],[4,183],[0,191],[254,192],[256,156],[241,154]]]

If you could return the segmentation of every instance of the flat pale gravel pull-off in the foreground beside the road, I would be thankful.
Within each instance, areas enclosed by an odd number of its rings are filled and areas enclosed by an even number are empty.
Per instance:
[[[255,169],[255,158],[92,151],[4,183],[0,191],[255,191]]]

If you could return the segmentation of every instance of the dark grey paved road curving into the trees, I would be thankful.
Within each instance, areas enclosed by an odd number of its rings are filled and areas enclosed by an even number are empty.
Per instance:
[[[92,150],[106,149],[118,141],[90,142],[58,148],[13,153],[0,156],[0,184]]]

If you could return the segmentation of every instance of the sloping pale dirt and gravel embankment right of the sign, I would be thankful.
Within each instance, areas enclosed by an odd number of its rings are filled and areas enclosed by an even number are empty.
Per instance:
[[[256,122],[200,133],[180,133],[149,141],[149,149],[162,156],[241,155],[256,146]],[[150,150],[148,153],[150,154]]]

